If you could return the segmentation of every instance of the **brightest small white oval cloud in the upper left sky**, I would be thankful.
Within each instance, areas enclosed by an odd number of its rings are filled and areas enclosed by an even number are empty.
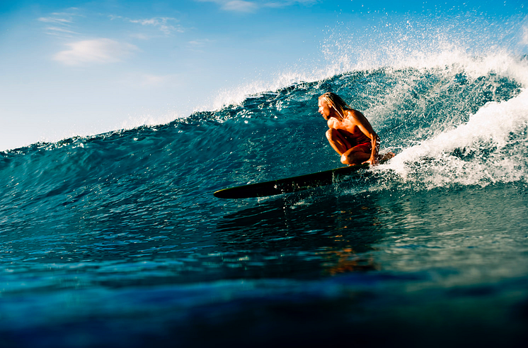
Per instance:
[[[139,50],[129,43],[118,43],[106,38],[78,41],[68,46],[69,50],[58,52],[53,59],[67,65],[105,64],[121,62],[122,58]]]

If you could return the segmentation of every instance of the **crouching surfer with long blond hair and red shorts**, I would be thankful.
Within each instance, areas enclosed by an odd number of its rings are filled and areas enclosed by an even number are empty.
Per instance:
[[[333,150],[341,155],[341,163],[349,166],[384,162],[394,154],[379,158],[379,137],[360,111],[351,108],[335,93],[319,97],[319,113],[327,121],[326,138]],[[388,157],[388,158],[386,158]]]

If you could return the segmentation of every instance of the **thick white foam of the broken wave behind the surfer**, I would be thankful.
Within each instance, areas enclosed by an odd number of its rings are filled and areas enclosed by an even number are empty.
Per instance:
[[[420,184],[428,188],[517,181],[528,174],[527,128],[528,90],[524,89],[508,101],[487,103],[467,123],[403,150],[387,167],[404,180],[419,176]],[[457,149],[476,155],[462,159],[452,155]],[[418,169],[413,167],[416,164]]]

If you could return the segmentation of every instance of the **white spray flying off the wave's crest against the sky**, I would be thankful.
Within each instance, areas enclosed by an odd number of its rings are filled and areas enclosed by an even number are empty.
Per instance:
[[[437,23],[430,23],[433,21]],[[495,23],[496,28],[503,29],[501,33],[490,30],[486,27],[488,21],[478,16],[443,21],[401,20],[383,23],[384,28],[369,23],[353,30],[338,26],[328,30],[328,37],[321,43],[321,60],[299,60],[294,67],[273,76],[268,74],[265,78],[222,89],[212,101],[195,111],[217,111],[239,105],[248,96],[276,91],[297,82],[322,81],[338,74],[379,68],[440,68],[445,74],[464,72],[469,78],[493,72],[528,86],[528,69],[519,63],[519,50],[526,49],[523,40],[527,30],[518,28],[528,26],[526,19],[508,18],[503,23]],[[510,39],[508,35],[515,30],[517,36]]]

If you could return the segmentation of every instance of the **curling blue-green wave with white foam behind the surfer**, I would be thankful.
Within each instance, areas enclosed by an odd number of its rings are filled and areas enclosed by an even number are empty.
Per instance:
[[[359,191],[525,182],[527,63],[495,55],[356,70],[165,125],[0,152],[2,221],[20,222],[50,206],[119,212],[143,200],[184,211],[226,186],[340,167],[316,112],[326,91],[365,113],[381,152],[396,152]]]

